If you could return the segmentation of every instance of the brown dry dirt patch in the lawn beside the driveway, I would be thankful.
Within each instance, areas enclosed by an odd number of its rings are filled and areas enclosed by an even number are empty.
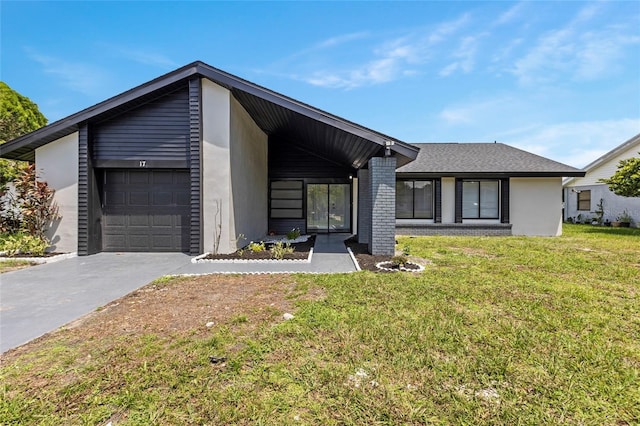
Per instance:
[[[296,283],[287,275],[206,275],[151,283],[26,345],[5,352],[3,363],[46,344],[117,341],[145,334],[205,336],[211,327],[282,321],[293,310]],[[321,298],[310,293],[305,297]],[[209,327],[207,327],[209,323]],[[213,323],[213,324],[211,324]]]

